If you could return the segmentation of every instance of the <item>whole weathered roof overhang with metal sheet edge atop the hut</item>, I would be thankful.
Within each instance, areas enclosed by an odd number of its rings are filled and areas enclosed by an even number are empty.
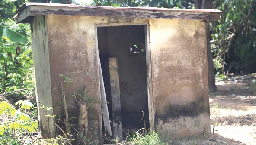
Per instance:
[[[219,20],[218,9],[166,9],[154,7],[80,6],[59,3],[24,3],[17,9],[17,23],[31,23],[36,15],[79,15],[122,18]]]

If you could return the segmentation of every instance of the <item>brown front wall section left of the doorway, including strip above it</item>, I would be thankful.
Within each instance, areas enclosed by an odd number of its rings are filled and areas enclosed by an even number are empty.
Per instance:
[[[60,82],[63,78],[59,74],[70,76],[75,82],[65,86],[68,105],[74,106],[75,99],[71,96],[74,91],[87,86],[88,95],[100,100],[99,63],[97,57],[97,42],[95,24],[116,22],[137,22],[138,19],[82,17],[47,15],[48,43],[51,68],[51,89],[54,114],[61,114]],[[146,20],[146,19],[145,19]],[[89,139],[99,141],[102,136],[101,105],[92,105],[88,112]],[[72,107],[70,116],[77,115],[77,109]]]

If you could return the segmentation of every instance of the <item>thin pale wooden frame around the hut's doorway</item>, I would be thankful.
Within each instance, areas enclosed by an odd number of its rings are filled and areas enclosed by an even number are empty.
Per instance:
[[[154,114],[154,98],[153,98],[153,83],[152,83],[152,65],[151,65],[151,51],[150,51],[150,34],[149,34],[149,22],[121,22],[121,23],[103,23],[95,24],[95,40],[96,40],[96,53],[97,62],[99,62],[99,46],[98,46],[98,27],[110,27],[110,26],[131,26],[131,25],[144,25],[145,29],[145,49],[146,49],[146,65],[147,65],[147,99],[148,99],[148,114],[149,114],[149,125],[150,131],[155,130],[155,114]],[[99,63],[97,63],[99,64]],[[99,66],[100,67],[100,66]],[[99,74],[98,68],[98,74]],[[100,79],[99,79],[100,81]],[[99,82],[100,84],[100,82]],[[100,92],[99,92],[100,94]],[[99,99],[101,96],[99,95]],[[101,107],[100,107],[101,108]],[[100,129],[102,132],[102,113],[99,114],[99,124],[101,124]]]

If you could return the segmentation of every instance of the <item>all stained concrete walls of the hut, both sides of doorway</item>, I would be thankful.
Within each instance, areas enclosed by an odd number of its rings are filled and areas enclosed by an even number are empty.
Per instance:
[[[68,105],[75,106],[71,94],[85,85],[91,97],[100,99],[95,24],[148,21],[152,68],[148,71],[153,82],[155,129],[175,138],[201,135],[210,130],[206,32],[205,22],[199,20],[64,15],[46,15],[43,20],[35,17],[32,43],[36,49],[33,51],[38,102],[48,107],[52,105],[53,113],[62,115],[60,82],[63,78],[59,74],[75,81],[65,86]],[[102,136],[100,108],[97,104],[89,109],[92,142]],[[68,109],[70,116],[77,115],[77,109]],[[43,117],[44,114],[40,114],[40,124]],[[52,126],[50,121],[45,122]]]

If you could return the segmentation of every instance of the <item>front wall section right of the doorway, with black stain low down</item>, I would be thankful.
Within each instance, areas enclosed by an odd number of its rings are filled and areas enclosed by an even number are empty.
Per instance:
[[[150,19],[156,130],[174,138],[210,130],[205,22]]]

